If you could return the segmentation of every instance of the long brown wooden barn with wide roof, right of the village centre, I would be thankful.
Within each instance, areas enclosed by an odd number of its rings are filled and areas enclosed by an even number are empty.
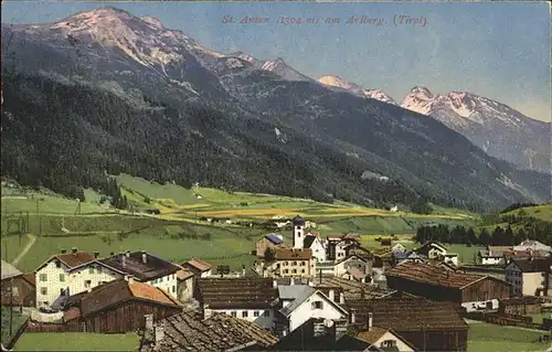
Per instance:
[[[385,271],[388,287],[457,303],[510,298],[511,285],[491,276],[445,269],[433,263],[402,262]]]

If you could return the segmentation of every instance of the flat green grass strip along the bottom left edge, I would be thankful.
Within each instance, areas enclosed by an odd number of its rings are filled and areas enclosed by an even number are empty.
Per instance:
[[[137,351],[140,345],[134,332],[105,334],[78,332],[28,332],[15,343],[14,351]]]

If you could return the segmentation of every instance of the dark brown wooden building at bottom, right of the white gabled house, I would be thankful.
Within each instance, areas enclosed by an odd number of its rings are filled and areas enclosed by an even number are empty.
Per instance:
[[[371,324],[392,330],[421,351],[466,351],[468,326],[452,302],[424,298],[349,300],[351,324],[367,331]],[[371,322],[370,322],[371,313]]]

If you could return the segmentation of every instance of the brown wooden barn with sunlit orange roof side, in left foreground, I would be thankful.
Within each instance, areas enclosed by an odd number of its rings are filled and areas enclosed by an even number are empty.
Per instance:
[[[100,285],[72,296],[64,312],[67,331],[127,332],[144,329],[145,314],[160,320],[182,311],[182,305],[160,288],[130,279]]]

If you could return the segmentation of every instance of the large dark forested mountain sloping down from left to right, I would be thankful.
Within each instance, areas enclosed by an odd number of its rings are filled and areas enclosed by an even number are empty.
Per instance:
[[[123,17],[129,26],[119,28],[112,39],[93,38],[86,31],[67,35],[66,24],[54,29],[52,23],[2,24],[2,74],[10,77],[10,102],[4,99],[2,119],[12,131],[2,139],[9,151],[2,153],[2,172],[25,177],[22,170],[32,170],[34,179],[43,179],[36,171],[42,166],[65,174],[63,182],[68,184],[63,186],[74,188],[78,184],[71,183],[72,178],[81,184],[91,182],[81,171],[66,175],[65,169],[78,162],[96,183],[98,170],[108,167],[183,184],[200,180],[208,185],[315,194],[361,204],[427,200],[479,210],[539,201],[549,193],[546,175],[519,171],[486,156],[437,120],[336,92],[314,79],[285,79],[241,54],[221,54],[182,32]],[[6,47],[8,38],[13,39],[10,47]],[[41,88],[41,81],[47,89]],[[83,106],[67,99],[71,85],[89,95],[74,95]],[[26,102],[31,96],[32,102]],[[62,170],[36,154],[55,143],[33,130],[36,111],[45,108],[45,102],[57,102],[49,107],[57,119],[49,128],[67,138],[75,134],[85,138],[89,149],[66,141],[78,152],[55,150],[66,160]],[[127,117],[140,114],[136,120]],[[115,127],[121,124],[119,115],[131,132]],[[148,135],[168,139],[144,139]],[[174,156],[163,154],[169,150]],[[22,156],[31,164],[18,167],[25,160]],[[391,182],[362,180],[367,171]]]

